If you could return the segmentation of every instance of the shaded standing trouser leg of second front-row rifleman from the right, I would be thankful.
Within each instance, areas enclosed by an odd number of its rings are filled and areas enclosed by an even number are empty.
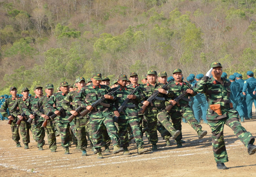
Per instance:
[[[149,141],[151,144],[157,144],[157,110],[155,110],[155,112],[145,113],[144,116],[149,128]]]

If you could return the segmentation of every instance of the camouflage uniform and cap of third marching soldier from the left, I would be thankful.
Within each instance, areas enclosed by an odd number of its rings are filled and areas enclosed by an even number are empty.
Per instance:
[[[42,88],[41,86],[35,86],[34,90],[36,88]],[[38,102],[39,97],[34,96],[30,97],[26,100],[26,102],[22,106],[23,112],[26,114],[27,118],[29,118],[30,114],[34,113],[35,105]],[[34,134],[35,141],[37,142],[38,148],[42,148],[44,145],[44,137],[45,137],[45,131],[44,127],[41,127],[44,122],[44,118],[42,118],[39,115],[36,115],[33,119],[33,122],[31,123],[31,130]]]

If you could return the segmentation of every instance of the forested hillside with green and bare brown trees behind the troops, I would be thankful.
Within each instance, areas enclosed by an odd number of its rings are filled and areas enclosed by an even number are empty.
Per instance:
[[[1,0],[0,16],[0,94],[92,72],[256,71],[256,0]]]

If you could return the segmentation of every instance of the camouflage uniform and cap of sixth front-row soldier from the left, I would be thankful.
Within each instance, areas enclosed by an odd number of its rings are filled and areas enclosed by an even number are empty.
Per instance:
[[[76,83],[85,80],[83,77],[77,78]],[[76,110],[77,107],[81,106],[82,98],[80,98],[81,91],[76,90],[72,91],[69,94],[66,95],[66,97],[62,101],[62,107],[67,111]],[[73,109],[70,107],[70,104],[72,103]],[[75,128],[76,128],[76,137],[77,137],[77,143],[78,148],[80,148],[82,151],[86,152],[87,148],[87,139],[86,139],[86,125],[87,125],[88,118],[84,118],[82,115],[78,114],[74,117]]]

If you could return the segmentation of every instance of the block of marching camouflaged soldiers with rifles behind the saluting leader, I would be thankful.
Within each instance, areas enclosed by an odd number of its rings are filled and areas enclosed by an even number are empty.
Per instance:
[[[182,148],[182,117],[196,131],[199,139],[204,137],[207,131],[202,130],[202,126],[194,118],[188,105],[188,98],[195,96],[196,92],[189,83],[182,80],[182,71],[174,70],[175,80],[168,85],[166,72],[160,72],[158,76],[160,83],[157,83],[157,72],[150,70],[142,79],[144,84],[140,85],[137,73],[132,72],[129,74],[131,84],[128,85],[127,76],[119,75],[116,80],[118,84],[115,86],[113,83],[110,88],[107,86],[109,78],[102,79],[101,73],[94,73],[89,80],[91,84],[89,81],[86,84],[83,77],[77,78],[73,91],[69,92],[67,82],[61,82],[58,88],[60,91],[55,94],[53,85],[47,84],[45,96],[41,86],[34,87],[33,97],[28,97],[28,88],[22,88],[22,98],[17,97],[17,88],[11,87],[12,97],[5,101],[0,112],[9,119],[12,139],[17,143],[17,147],[21,147],[18,132],[20,127],[25,149],[28,149],[29,129],[31,129],[39,150],[43,150],[45,132],[47,132],[49,148],[51,152],[56,152],[55,122],[57,122],[65,154],[69,154],[72,134],[75,143],[77,139],[77,149],[82,151],[82,156],[87,156],[85,149],[88,144],[86,138],[88,133],[97,158],[103,158],[102,147],[105,147],[105,153],[110,152],[111,141],[114,154],[123,152],[124,155],[129,155],[128,146],[131,137],[135,139],[138,154],[155,151],[158,141],[157,130],[164,139],[173,138],[177,147]],[[162,88],[163,86],[165,88]],[[157,97],[149,100],[155,93]],[[179,102],[174,99],[182,93],[186,95]],[[100,99],[101,102],[95,104]],[[172,105],[170,111],[165,110],[167,105]],[[146,109],[142,111],[140,107]],[[7,109],[10,110],[10,115],[6,115]],[[82,114],[86,111],[88,114]],[[128,137],[128,131],[131,137]],[[144,131],[152,144],[150,150],[143,148],[142,132]]]

